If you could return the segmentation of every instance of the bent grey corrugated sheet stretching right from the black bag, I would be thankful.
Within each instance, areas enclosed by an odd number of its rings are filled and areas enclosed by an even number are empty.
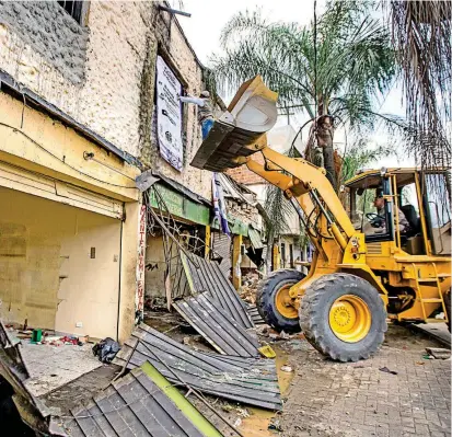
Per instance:
[[[113,363],[134,369],[146,361],[172,382],[177,381],[175,372],[201,392],[268,410],[282,409],[276,366],[271,359],[193,350],[141,323]]]

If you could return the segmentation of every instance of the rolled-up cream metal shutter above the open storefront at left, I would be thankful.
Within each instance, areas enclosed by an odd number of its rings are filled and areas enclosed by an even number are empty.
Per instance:
[[[3,162],[0,162],[0,186],[103,216],[124,218],[124,204],[119,200]]]

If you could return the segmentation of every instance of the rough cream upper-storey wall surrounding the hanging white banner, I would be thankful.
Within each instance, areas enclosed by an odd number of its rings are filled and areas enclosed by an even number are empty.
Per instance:
[[[210,198],[210,174],[188,164],[200,145],[196,108],[185,110],[184,172],[151,140],[154,68],[164,55],[189,93],[201,67],[176,19],[157,2],[92,1],[80,26],[57,2],[0,3],[0,68],[148,166]]]

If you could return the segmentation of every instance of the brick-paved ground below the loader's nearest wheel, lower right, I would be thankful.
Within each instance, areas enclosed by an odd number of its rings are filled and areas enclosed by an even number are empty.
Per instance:
[[[297,376],[281,435],[450,436],[451,361],[426,360],[422,353],[419,346],[383,346],[369,360],[339,364],[324,360],[310,345],[291,352]]]

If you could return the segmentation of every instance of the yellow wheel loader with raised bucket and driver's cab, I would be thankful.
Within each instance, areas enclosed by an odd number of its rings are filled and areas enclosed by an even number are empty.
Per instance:
[[[324,169],[267,146],[276,100],[260,77],[245,82],[192,162],[213,172],[246,165],[282,189],[315,248],[305,277],[280,269],[259,284],[266,322],[302,330],[317,350],[340,361],[374,353],[387,319],[449,323],[449,172],[364,171],[347,182],[344,206]]]

